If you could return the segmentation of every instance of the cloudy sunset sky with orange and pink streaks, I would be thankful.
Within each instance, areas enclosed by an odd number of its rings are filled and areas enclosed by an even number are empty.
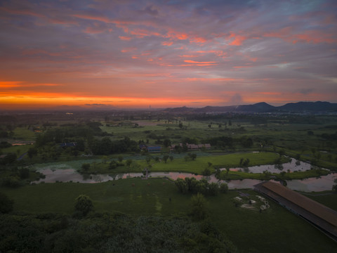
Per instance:
[[[337,103],[337,1],[0,1],[0,110]]]

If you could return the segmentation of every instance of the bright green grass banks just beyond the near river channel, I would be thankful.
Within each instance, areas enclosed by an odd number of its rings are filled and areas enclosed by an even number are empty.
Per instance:
[[[162,156],[161,156],[162,157]],[[149,168],[150,171],[166,172],[166,171],[176,171],[176,172],[187,172],[192,174],[202,174],[204,169],[209,167],[209,162],[211,162],[212,167],[211,173],[215,173],[214,167],[218,168],[231,168],[239,167],[239,161],[244,158],[244,160],[249,159],[249,166],[263,165],[263,164],[273,164],[275,160],[279,159],[279,155],[276,153],[237,153],[237,154],[227,154],[227,155],[211,155],[197,157],[196,160],[185,160],[184,158],[178,158],[164,161],[155,162],[150,161],[151,166],[144,160],[133,160],[130,168],[126,166],[126,161],[121,162],[123,166],[116,167],[115,169],[110,169],[110,162],[93,162],[91,167],[87,171],[82,171],[84,174],[118,174],[118,173],[128,173],[128,172],[142,172],[145,167]],[[288,162],[288,158],[281,157],[282,162]],[[310,171],[297,171],[297,172],[286,172],[284,174],[265,174],[265,173],[246,173],[244,171],[222,171],[220,174],[220,179],[223,180],[236,180],[236,179],[258,179],[258,180],[269,180],[270,178],[291,180],[291,179],[308,179],[310,177],[324,176],[329,174],[329,171],[323,169],[312,169]]]

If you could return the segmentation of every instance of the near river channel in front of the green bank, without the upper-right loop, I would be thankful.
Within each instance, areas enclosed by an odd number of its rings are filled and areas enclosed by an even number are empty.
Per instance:
[[[83,176],[79,174],[75,169],[67,164],[64,164],[62,169],[60,167],[45,167],[39,169],[39,172],[46,176],[45,179],[40,179],[39,181],[35,181],[33,183],[55,183],[55,182],[79,182],[79,183],[101,183],[105,181],[112,181],[118,179],[127,179],[134,177],[143,177],[143,173],[125,173],[125,174],[91,174],[90,176]],[[207,179],[209,182],[219,182],[218,179],[214,175],[211,176],[201,176],[194,175],[191,173],[179,173],[179,172],[151,172],[149,177],[166,177],[170,179],[185,179],[185,177],[194,177],[197,180]],[[327,176],[321,176],[319,179],[303,179],[303,180],[292,180],[287,181],[288,187],[292,190],[300,190],[303,192],[311,192],[311,191],[323,191],[323,190],[331,190],[333,186],[333,180],[337,179],[337,174],[329,174]],[[220,181],[225,182],[225,181]],[[253,188],[254,185],[260,183],[259,180],[256,179],[243,179],[243,180],[232,180],[229,182],[225,182],[228,184],[230,189],[239,189],[239,188]]]

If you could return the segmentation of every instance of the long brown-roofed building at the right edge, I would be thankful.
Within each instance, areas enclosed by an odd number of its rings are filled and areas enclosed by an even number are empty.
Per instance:
[[[335,210],[279,183],[265,181],[255,185],[254,190],[267,195],[279,205],[315,225],[333,240],[337,240],[337,212]]]

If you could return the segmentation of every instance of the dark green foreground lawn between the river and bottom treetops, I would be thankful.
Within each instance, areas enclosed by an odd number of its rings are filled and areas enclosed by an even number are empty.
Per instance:
[[[164,179],[126,179],[105,183],[41,183],[22,188],[1,188],[14,200],[15,211],[72,214],[74,199],[86,194],[97,212],[124,212],[141,215],[176,215],[190,209],[191,195],[178,193]],[[253,190],[242,190],[257,200]],[[237,191],[207,197],[213,223],[224,231],[242,252],[333,252],[336,242],[309,223],[269,200],[263,213],[235,207]],[[171,197],[171,201],[169,198]],[[319,198],[320,196],[317,196]],[[258,207],[258,206],[257,206]]]

